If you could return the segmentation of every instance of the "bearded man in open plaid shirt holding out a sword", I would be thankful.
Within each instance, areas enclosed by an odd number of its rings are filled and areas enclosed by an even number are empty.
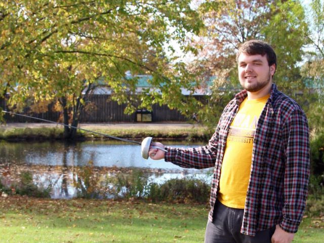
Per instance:
[[[205,242],[291,242],[302,220],[309,177],[309,131],[300,106],[272,83],[273,49],[241,45],[243,91],[225,107],[206,146],[151,148],[152,159],[215,167]]]

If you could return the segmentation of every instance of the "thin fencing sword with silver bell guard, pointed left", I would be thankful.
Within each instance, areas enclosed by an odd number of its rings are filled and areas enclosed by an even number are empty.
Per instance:
[[[152,137],[146,137],[146,138],[143,139],[142,142],[138,142],[138,141],[134,141],[134,140],[130,140],[130,139],[118,138],[118,137],[115,137],[115,136],[95,132],[95,131],[84,129],[84,128],[78,128],[78,127],[74,127],[74,126],[71,126],[71,125],[66,125],[66,124],[63,124],[63,123],[57,123],[56,121],[46,120],[46,119],[43,119],[43,118],[33,117],[33,116],[30,116],[30,115],[19,114],[19,113],[15,113],[15,112],[11,112],[11,111],[6,111],[6,110],[2,110],[2,112],[12,114],[12,115],[18,115],[18,116],[22,116],[22,117],[32,118],[32,119],[36,119],[36,120],[42,120],[42,121],[46,121],[47,123],[53,123],[53,124],[61,125],[61,126],[64,126],[64,127],[74,128],[74,129],[82,130],[82,131],[93,133],[93,134],[102,135],[104,137],[108,137],[108,138],[112,138],[112,139],[116,139],[116,140],[120,140],[120,141],[124,141],[124,142],[128,142],[128,143],[135,143],[135,144],[141,145],[142,157],[145,158],[145,159],[148,158],[148,151],[149,151],[150,147],[151,148],[156,148],[156,149],[159,149],[159,150],[162,150],[162,151],[165,151],[165,152],[168,151],[168,150],[166,150],[164,148],[161,148],[159,146],[152,146],[151,145],[152,139],[153,139]]]

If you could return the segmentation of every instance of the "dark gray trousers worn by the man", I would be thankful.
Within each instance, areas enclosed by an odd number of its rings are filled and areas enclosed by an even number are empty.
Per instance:
[[[208,221],[205,243],[271,243],[275,225],[258,231],[255,236],[240,233],[244,210],[228,208],[218,200],[214,206],[214,220]]]

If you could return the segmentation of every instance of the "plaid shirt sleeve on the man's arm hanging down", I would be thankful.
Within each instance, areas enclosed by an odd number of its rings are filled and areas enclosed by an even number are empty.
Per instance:
[[[284,208],[280,227],[297,232],[306,205],[309,180],[309,130],[303,111],[296,109],[287,118],[282,130],[286,148],[284,177]]]

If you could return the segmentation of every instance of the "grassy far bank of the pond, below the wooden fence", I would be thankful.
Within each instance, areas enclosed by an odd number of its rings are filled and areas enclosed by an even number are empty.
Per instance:
[[[170,127],[163,128],[159,126],[155,128],[153,126],[89,126],[88,130],[95,132],[108,134],[115,137],[126,139],[138,139],[141,140],[145,137],[154,137],[159,139],[168,140],[194,140],[194,141],[208,141],[212,135],[212,131],[208,131],[203,126],[183,126],[183,127]],[[1,127],[0,139],[6,141],[17,140],[57,140],[63,139],[63,128],[58,127]],[[105,136],[99,134],[93,134],[82,130],[77,131],[77,140],[89,140],[89,139],[107,139]]]

